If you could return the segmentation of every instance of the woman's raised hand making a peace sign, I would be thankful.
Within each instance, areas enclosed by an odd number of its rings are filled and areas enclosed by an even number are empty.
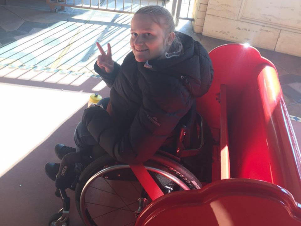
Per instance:
[[[114,62],[112,59],[111,45],[108,43],[108,51],[107,54],[100,46],[98,42],[96,42],[96,46],[98,47],[101,55],[97,57],[97,65],[100,69],[104,70],[106,73],[112,73],[114,70]]]

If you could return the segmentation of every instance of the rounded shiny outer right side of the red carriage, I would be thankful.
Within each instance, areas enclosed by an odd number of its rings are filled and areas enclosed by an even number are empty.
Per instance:
[[[283,186],[301,201],[301,156],[286,109],[277,72],[265,67],[258,76],[267,131],[272,183]]]

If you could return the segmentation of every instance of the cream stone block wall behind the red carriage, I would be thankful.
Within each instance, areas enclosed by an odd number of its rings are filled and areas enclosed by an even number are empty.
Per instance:
[[[194,31],[301,56],[301,0],[195,0]]]

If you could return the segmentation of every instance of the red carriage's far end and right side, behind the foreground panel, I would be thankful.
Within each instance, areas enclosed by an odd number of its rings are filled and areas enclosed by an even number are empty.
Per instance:
[[[231,177],[275,183],[301,202],[300,150],[276,68],[242,44],[219,46],[209,56],[215,77],[197,109],[211,128],[220,129],[220,84],[227,86]]]

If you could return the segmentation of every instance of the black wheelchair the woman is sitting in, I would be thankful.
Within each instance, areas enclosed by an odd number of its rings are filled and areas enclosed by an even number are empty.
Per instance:
[[[175,150],[158,150],[143,163],[164,195],[200,189],[211,182],[210,129],[204,126],[203,118],[198,114],[193,126],[187,126],[191,123],[187,118],[191,116],[183,119],[186,125],[183,121],[178,124]],[[200,167],[194,167],[196,165]],[[96,158],[77,174],[73,184],[75,202],[86,226],[134,226],[139,214],[152,201],[130,165],[118,162],[108,154]],[[63,208],[51,216],[48,225],[68,226],[70,198],[61,189],[57,190],[56,196],[61,197]]]

